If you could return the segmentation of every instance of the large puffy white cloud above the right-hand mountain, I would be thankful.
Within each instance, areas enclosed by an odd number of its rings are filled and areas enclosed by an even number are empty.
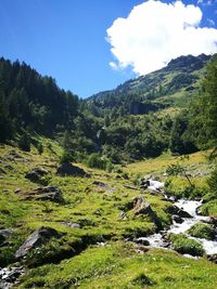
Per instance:
[[[200,28],[202,11],[181,1],[166,4],[149,0],[132,9],[127,18],[117,18],[107,29],[107,41],[117,69],[132,66],[144,75],[162,68],[180,55],[217,51],[217,29]]]

